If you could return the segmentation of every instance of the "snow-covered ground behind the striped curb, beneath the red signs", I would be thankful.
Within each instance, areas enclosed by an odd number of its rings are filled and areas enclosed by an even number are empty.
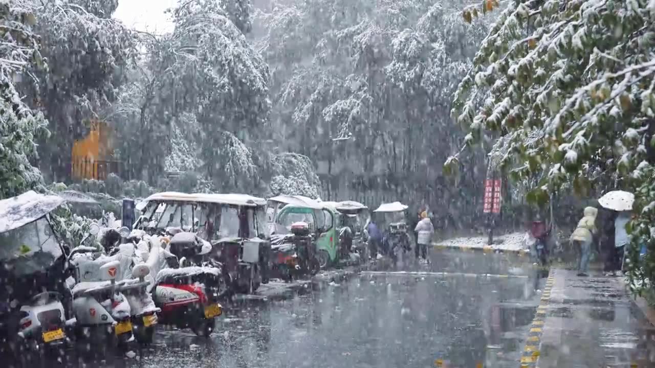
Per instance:
[[[523,236],[525,236],[525,232],[498,235],[493,238],[495,244],[491,246],[487,245],[487,236],[450,238],[434,243],[434,248],[483,251],[485,253],[515,253],[523,256],[529,253],[528,249],[523,249]]]

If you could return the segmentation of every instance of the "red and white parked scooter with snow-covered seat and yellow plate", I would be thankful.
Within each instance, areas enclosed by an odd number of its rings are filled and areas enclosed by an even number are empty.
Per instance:
[[[209,336],[215,318],[223,314],[221,264],[205,259],[212,246],[192,232],[178,232],[168,249],[153,245],[149,264],[166,265],[157,272],[153,296],[161,308],[160,323],[190,327],[196,335]]]

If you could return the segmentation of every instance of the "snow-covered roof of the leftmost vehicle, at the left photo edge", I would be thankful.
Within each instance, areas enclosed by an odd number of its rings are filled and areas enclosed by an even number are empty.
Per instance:
[[[0,200],[0,232],[18,229],[52,212],[64,203],[60,196],[29,191]]]

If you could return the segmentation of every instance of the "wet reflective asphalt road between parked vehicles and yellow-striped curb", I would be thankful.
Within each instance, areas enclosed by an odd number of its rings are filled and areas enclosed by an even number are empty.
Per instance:
[[[420,275],[364,272],[288,299],[240,301],[210,339],[162,330],[136,358],[92,365],[516,367],[546,275],[511,255],[435,250],[431,259],[396,270]]]

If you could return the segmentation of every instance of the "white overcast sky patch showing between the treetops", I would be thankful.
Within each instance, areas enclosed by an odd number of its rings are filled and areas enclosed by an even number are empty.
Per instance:
[[[114,13],[129,28],[152,33],[171,31],[173,26],[164,10],[175,5],[176,0],[119,0]]]

